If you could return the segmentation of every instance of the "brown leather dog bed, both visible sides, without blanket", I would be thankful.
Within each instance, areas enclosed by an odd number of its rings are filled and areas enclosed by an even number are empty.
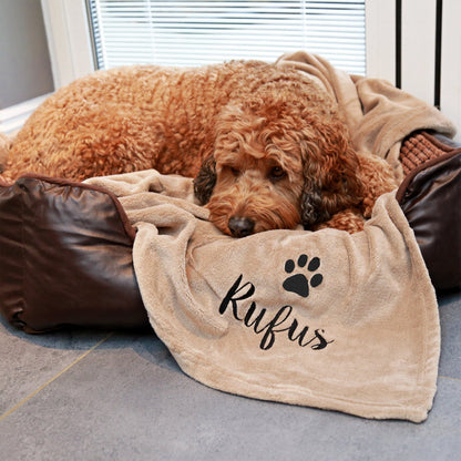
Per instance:
[[[397,199],[432,284],[461,287],[461,146],[427,132],[402,143]],[[148,325],[133,269],[135,229],[100,187],[30,175],[0,186],[0,311],[27,332]]]

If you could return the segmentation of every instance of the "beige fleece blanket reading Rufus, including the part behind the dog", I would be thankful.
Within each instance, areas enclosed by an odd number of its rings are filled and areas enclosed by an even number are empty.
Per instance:
[[[395,151],[406,134],[453,132],[439,112],[385,82],[296,58],[337,96],[356,145],[390,157],[398,174]],[[145,307],[187,375],[258,399],[427,418],[438,306],[395,193],[355,235],[300,229],[233,239],[194,204],[191,180],[146,171],[89,182],[114,192],[137,228],[133,260]]]

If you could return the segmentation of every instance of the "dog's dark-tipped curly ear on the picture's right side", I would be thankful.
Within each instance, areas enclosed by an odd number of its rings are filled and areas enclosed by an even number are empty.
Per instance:
[[[311,125],[301,151],[305,183],[300,208],[305,228],[362,201],[359,160],[340,122]]]

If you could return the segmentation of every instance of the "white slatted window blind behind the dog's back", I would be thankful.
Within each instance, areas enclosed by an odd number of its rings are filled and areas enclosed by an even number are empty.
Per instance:
[[[99,69],[320,54],[366,73],[365,0],[86,0]]]

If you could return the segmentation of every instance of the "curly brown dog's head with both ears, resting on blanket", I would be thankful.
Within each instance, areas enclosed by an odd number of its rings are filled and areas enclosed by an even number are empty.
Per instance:
[[[328,109],[255,98],[225,107],[195,194],[225,234],[314,228],[360,202],[358,161]]]

